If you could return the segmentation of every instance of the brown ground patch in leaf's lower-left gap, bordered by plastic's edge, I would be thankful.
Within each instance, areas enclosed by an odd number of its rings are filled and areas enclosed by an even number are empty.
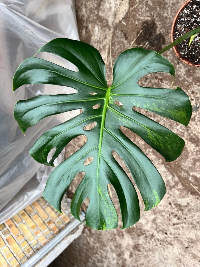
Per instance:
[[[71,156],[73,153],[75,153],[77,150],[79,150],[81,147],[84,146],[87,142],[87,136],[84,134],[81,134],[79,136],[76,136],[73,138],[67,145],[65,150],[65,159]]]

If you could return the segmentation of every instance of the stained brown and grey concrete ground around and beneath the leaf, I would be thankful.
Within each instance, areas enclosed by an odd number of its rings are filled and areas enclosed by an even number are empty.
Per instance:
[[[131,47],[140,46],[159,51],[170,43],[172,21],[183,2],[180,0],[76,1],[80,39],[100,51],[106,62],[109,84],[111,83],[110,58],[114,62],[119,53]],[[167,51],[164,56],[175,66],[174,85],[183,88],[190,96],[193,106],[191,122],[185,128],[166,118],[147,112],[145,114],[185,140],[183,153],[174,162],[166,163],[143,140],[129,134],[161,173],[167,187],[164,199],[151,211],[143,212],[144,206],[140,198],[140,221],[131,228],[95,231],[85,227],[82,235],[50,266],[200,266],[198,237],[200,69],[180,61],[173,49]],[[143,78],[141,84],[169,88],[171,81],[172,78],[167,74],[150,74],[147,78]],[[117,206],[114,192],[113,201]]]

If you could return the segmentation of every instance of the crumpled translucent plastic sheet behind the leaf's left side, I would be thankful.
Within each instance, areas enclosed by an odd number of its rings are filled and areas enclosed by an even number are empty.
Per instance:
[[[43,93],[72,93],[74,89],[26,85],[13,93],[13,74],[20,63],[50,40],[78,40],[75,14],[74,0],[0,0],[0,223],[41,196],[53,169],[31,158],[28,151],[33,143],[44,131],[78,114],[72,111],[48,117],[29,128],[24,137],[13,117],[17,100]],[[48,54],[48,60],[76,70],[73,64],[52,54]],[[61,153],[55,165],[62,160]]]

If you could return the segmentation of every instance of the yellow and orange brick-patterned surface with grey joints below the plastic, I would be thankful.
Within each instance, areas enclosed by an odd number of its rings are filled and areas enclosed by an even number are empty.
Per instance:
[[[17,267],[45,246],[70,221],[44,198],[0,225],[0,267]]]

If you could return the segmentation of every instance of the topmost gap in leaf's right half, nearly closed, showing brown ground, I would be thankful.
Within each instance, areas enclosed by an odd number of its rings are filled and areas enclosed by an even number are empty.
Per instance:
[[[165,72],[153,72],[146,74],[137,82],[138,85],[151,88],[170,88],[173,76]]]

